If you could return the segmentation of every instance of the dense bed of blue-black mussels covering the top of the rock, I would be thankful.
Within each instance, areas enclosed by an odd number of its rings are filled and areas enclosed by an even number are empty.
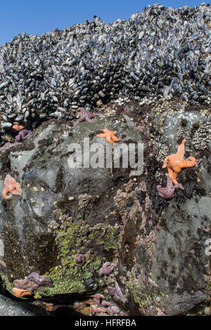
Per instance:
[[[211,103],[211,6],[155,4],[129,20],[100,18],[18,35],[0,46],[1,135],[14,121],[35,128],[118,98]]]

